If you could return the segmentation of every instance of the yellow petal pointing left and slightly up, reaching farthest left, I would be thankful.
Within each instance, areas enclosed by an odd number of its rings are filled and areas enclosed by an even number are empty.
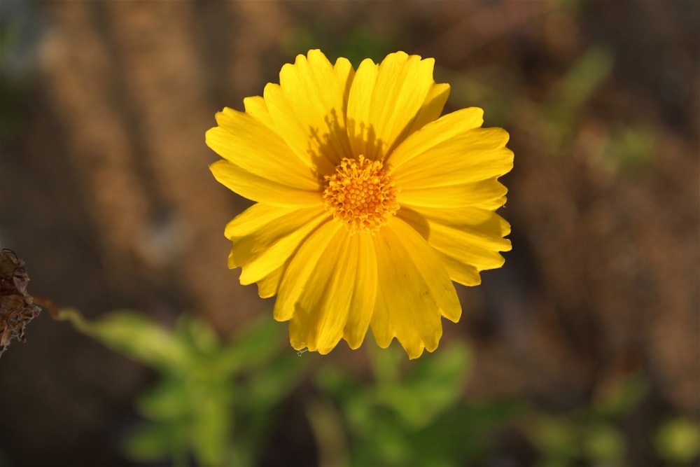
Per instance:
[[[207,146],[246,172],[297,190],[318,190],[318,179],[269,127],[247,113],[223,109],[218,127],[207,131]]]

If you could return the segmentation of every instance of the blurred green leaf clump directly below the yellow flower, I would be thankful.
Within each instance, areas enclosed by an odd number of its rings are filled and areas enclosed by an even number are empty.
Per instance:
[[[466,403],[471,353],[463,343],[407,363],[397,345],[372,353],[374,384],[324,367],[316,384],[340,407],[351,437],[349,465],[455,466],[489,452],[485,435],[517,405]],[[330,464],[328,464],[330,465]]]

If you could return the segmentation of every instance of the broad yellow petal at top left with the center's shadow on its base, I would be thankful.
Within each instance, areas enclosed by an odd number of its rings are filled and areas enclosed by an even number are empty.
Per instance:
[[[265,86],[277,133],[318,174],[332,174],[342,158],[351,157],[345,112],[353,74],[348,60],[332,65],[320,50],[309,50],[282,67],[279,85]]]

